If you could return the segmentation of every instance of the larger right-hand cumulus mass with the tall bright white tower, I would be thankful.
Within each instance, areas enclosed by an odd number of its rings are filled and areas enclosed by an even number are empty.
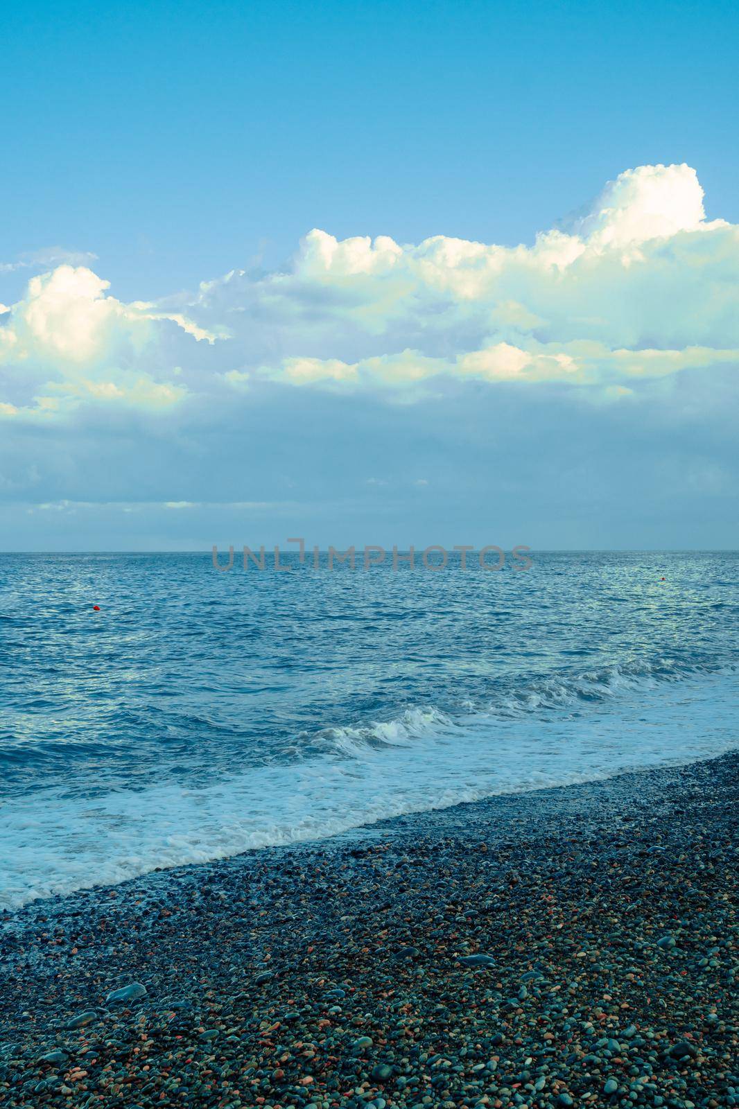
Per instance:
[[[739,228],[687,165],[609,183],[532,246],[311,231],[284,273],[204,283],[188,312],[234,336],[226,379],[412,399],[446,376],[618,397],[634,377],[739,360]]]

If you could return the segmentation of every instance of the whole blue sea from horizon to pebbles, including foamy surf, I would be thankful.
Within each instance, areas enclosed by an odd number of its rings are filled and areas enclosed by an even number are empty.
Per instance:
[[[0,904],[736,745],[737,553],[292,564],[0,556]]]

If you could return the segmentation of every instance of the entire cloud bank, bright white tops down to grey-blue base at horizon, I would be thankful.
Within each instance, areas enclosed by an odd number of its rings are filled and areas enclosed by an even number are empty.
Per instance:
[[[533,245],[314,230],[156,303],[79,261],[0,306],[10,549],[739,545],[739,227],[687,165]]]

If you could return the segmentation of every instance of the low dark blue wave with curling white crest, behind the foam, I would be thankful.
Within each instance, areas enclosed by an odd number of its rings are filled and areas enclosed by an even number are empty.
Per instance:
[[[34,739],[26,728],[18,728],[14,734],[10,729],[0,729],[0,770],[6,774],[6,786],[10,784],[8,775],[16,775],[19,782],[34,787],[44,774],[71,769],[72,761],[103,769],[105,760],[110,762],[113,757],[134,774],[136,766],[153,762],[160,763],[162,772],[175,764],[189,764],[194,770],[195,754],[205,760],[206,770],[233,764],[234,760],[256,767],[274,762],[303,763],[322,754],[361,759],[366,749],[416,744],[439,730],[464,729],[472,720],[487,718],[493,723],[528,715],[546,719],[555,712],[597,708],[624,694],[654,690],[660,683],[733,673],[736,667],[728,663],[676,658],[632,659],[550,674],[520,673],[496,683],[488,695],[476,699],[409,704],[401,711],[396,708],[387,719],[283,735],[276,732],[255,735],[243,720],[219,721],[202,711],[171,711],[151,705],[145,711],[123,708],[115,710],[114,720],[110,721],[99,713],[94,735],[64,728],[55,735],[45,733]],[[31,702],[26,702],[24,709],[30,705]],[[110,726],[100,728],[101,723]]]

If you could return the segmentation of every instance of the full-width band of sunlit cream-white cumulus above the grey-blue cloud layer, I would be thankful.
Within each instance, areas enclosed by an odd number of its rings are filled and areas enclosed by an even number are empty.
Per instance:
[[[247,403],[275,385],[413,403],[448,380],[619,400],[636,380],[739,364],[738,278],[739,227],[706,220],[688,165],[627,170],[530,246],[313,230],[284,271],[159,304],[63,264],[0,316],[0,415]]]

